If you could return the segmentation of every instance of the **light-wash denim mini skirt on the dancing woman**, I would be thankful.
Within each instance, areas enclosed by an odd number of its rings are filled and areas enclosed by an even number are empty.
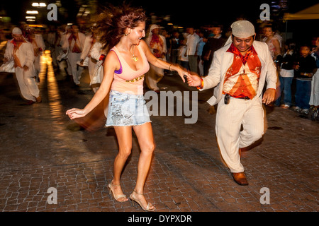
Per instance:
[[[111,90],[106,126],[139,126],[150,122],[143,95]]]

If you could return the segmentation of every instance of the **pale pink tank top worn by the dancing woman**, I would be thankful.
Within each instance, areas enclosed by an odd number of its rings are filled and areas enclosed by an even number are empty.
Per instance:
[[[114,80],[111,90],[116,90],[121,93],[143,95],[144,74],[150,70],[150,64],[148,64],[147,58],[140,45],[138,45],[138,51],[142,57],[140,60],[143,61],[143,66],[138,71],[130,68],[116,47],[113,47],[111,51],[116,53],[118,61],[120,61],[121,64],[121,68],[118,71],[114,71]]]

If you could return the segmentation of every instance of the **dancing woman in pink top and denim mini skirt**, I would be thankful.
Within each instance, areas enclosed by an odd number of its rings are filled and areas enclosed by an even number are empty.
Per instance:
[[[116,201],[128,201],[121,189],[121,173],[132,149],[132,129],[140,145],[138,178],[130,199],[143,210],[154,211],[155,206],[147,202],[143,189],[150,169],[155,141],[150,115],[143,97],[144,74],[150,64],[161,69],[177,71],[182,81],[189,74],[177,65],[157,59],[142,40],[145,37],[145,12],[129,6],[108,7],[98,18],[102,32],[101,42],[109,49],[104,61],[104,76],[101,87],[84,109],[69,109],[70,119],[84,117],[99,105],[110,92],[106,126],[113,126],[118,139],[119,151],[114,161],[113,181],[108,184]],[[111,90],[111,91],[110,91]]]

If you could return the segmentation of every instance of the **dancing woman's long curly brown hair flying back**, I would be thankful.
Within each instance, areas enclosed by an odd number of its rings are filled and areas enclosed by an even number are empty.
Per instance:
[[[121,37],[125,35],[125,29],[134,29],[139,23],[145,22],[147,16],[142,8],[123,6],[107,6],[96,17],[96,29],[100,36],[100,42],[105,52],[113,48]]]

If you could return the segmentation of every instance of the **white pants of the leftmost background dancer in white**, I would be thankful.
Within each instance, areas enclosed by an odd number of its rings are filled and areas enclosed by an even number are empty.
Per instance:
[[[24,71],[20,67],[16,67],[16,80],[20,88],[20,92],[23,98],[26,100],[32,100],[35,102],[35,97],[39,97],[40,90],[35,83],[34,73],[32,69]]]

